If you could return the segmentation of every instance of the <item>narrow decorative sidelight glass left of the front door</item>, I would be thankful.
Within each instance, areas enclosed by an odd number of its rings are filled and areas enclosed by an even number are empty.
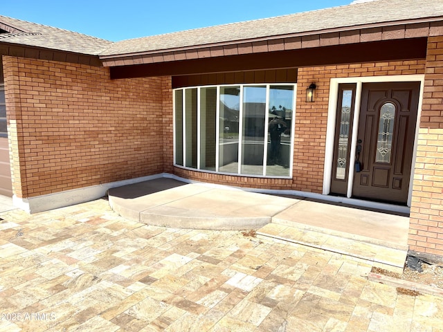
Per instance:
[[[343,90],[341,102],[340,133],[338,136],[338,154],[336,178],[343,180],[346,176],[347,146],[349,142],[350,116],[352,107],[352,90]]]

